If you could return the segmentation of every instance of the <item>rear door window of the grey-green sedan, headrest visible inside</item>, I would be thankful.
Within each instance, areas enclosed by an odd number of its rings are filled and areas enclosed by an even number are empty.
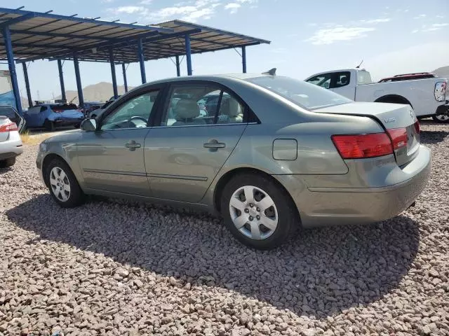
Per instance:
[[[161,126],[243,123],[243,106],[213,85],[175,87]]]

